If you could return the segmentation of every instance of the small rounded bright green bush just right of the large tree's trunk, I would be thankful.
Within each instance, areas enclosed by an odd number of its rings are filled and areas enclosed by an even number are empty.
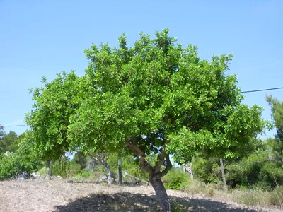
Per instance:
[[[183,190],[190,182],[190,177],[180,170],[168,172],[163,178],[166,189]]]

